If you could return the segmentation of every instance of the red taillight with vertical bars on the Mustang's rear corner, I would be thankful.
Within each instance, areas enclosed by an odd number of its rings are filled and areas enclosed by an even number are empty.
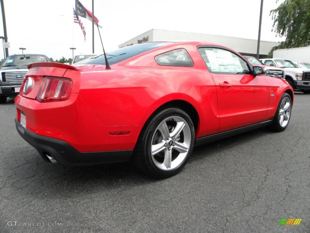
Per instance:
[[[44,77],[37,95],[38,101],[55,101],[68,99],[72,89],[69,79]]]

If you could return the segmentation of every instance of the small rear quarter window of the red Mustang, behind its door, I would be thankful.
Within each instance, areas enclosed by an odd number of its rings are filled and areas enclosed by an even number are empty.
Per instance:
[[[194,66],[192,58],[184,48],[159,54],[155,61],[161,66]]]

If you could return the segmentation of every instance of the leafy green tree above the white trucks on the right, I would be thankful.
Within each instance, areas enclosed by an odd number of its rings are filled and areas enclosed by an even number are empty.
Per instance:
[[[278,0],[277,0],[278,2]],[[296,48],[310,45],[310,0],[285,0],[277,9],[270,11],[273,29],[286,40],[273,47],[268,54],[280,48]]]

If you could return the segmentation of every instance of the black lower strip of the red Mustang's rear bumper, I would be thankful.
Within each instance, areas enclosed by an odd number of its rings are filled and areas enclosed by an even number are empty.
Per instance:
[[[46,161],[46,153],[64,166],[83,166],[114,162],[129,161],[133,150],[104,151],[104,152],[79,152],[65,141],[37,135],[24,129],[20,121],[15,119],[17,132],[30,145],[37,149]]]

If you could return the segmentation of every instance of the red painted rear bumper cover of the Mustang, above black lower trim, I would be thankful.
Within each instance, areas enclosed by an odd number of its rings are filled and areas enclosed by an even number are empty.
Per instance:
[[[65,141],[83,153],[132,150],[142,128],[135,125],[103,125],[80,94],[71,93],[67,100],[46,103],[18,95],[15,106],[16,119],[20,121],[22,111],[26,117],[27,130],[36,135]],[[119,131],[130,131],[130,134],[110,134]]]

